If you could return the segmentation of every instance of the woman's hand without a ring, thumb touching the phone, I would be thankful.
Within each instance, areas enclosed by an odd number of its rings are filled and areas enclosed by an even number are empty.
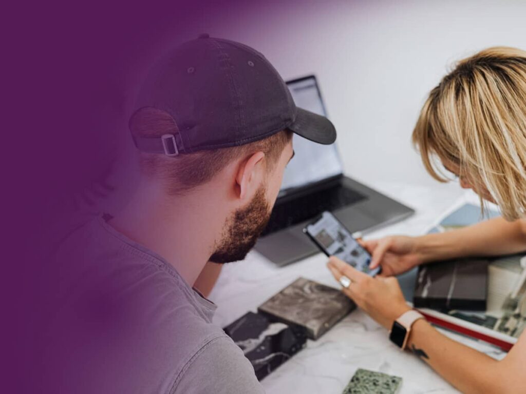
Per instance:
[[[423,263],[417,251],[417,239],[408,236],[389,236],[380,240],[360,241],[371,254],[370,268],[382,267],[380,276],[395,276]]]

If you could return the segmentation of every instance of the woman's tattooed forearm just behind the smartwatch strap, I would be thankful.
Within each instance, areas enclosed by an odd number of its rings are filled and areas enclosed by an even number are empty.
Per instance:
[[[517,359],[519,349],[497,361],[449,339],[425,320],[413,324],[408,349],[462,392],[526,392],[526,381],[520,373],[521,360]]]

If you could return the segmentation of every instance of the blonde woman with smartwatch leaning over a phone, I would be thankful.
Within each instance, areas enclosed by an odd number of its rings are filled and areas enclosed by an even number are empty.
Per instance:
[[[392,277],[432,261],[526,251],[526,51],[489,48],[461,60],[431,90],[412,140],[433,178],[446,181],[445,168],[462,188],[498,204],[503,217],[441,234],[363,242],[371,265],[381,265],[381,277],[370,278],[335,257],[328,266],[343,285],[350,279],[343,292],[398,335],[391,340],[460,391],[526,393],[526,332],[503,360],[494,360],[408,312]]]

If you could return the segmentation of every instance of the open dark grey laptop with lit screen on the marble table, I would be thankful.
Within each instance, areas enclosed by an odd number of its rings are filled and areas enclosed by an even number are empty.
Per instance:
[[[327,116],[316,77],[287,82],[298,107]],[[320,145],[294,136],[294,159],[285,170],[270,221],[256,250],[279,266],[318,253],[305,236],[306,223],[331,211],[351,232],[400,221],[414,211],[343,175],[336,143]]]

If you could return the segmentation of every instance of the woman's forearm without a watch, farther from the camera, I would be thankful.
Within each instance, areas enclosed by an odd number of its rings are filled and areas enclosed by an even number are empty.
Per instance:
[[[526,251],[526,224],[501,217],[463,229],[417,237],[424,263],[468,256],[496,256]]]

